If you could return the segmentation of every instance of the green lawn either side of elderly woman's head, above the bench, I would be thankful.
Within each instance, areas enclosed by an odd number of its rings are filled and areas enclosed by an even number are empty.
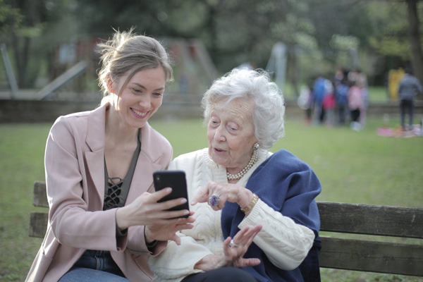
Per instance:
[[[312,166],[323,187],[318,200],[422,207],[423,137],[381,137],[376,128],[382,124],[381,118],[370,118],[355,132],[288,120],[286,136],[271,151],[288,149]],[[174,156],[207,147],[200,120],[152,125],[173,144]]]

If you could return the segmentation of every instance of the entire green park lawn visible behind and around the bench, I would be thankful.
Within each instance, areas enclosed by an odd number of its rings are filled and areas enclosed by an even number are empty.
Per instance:
[[[153,120],[173,144],[174,156],[207,146],[202,121]],[[422,207],[423,137],[376,135],[381,118],[360,132],[286,122],[286,137],[271,150],[288,149],[319,176],[320,201]],[[398,121],[391,121],[396,127]],[[0,124],[0,281],[23,281],[42,239],[29,238],[32,185],[44,180],[44,145],[51,124]],[[322,269],[323,281],[423,281],[422,278]]]

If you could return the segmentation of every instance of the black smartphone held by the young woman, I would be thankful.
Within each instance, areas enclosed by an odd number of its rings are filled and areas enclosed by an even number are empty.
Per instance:
[[[179,206],[168,209],[169,211],[178,211],[181,209],[190,210],[188,204],[188,191],[187,191],[187,180],[185,178],[185,171],[154,171],[153,173],[154,189],[159,191],[163,188],[170,187],[172,192],[166,197],[159,200],[159,202],[165,202],[168,200],[185,198],[187,202],[180,204]],[[188,217],[189,214],[179,217]]]

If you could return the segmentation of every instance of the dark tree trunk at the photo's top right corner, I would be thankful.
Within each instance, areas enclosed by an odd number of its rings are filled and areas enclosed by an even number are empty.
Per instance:
[[[406,0],[408,10],[408,31],[411,43],[411,63],[415,76],[423,84],[423,54],[420,43],[419,16],[417,14],[417,2],[419,0]]]

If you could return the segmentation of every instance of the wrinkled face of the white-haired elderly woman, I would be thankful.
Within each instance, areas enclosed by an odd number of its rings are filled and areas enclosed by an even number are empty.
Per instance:
[[[218,102],[210,113],[207,125],[209,155],[229,173],[238,173],[250,161],[257,139],[252,123],[253,105],[245,99],[229,104]]]

